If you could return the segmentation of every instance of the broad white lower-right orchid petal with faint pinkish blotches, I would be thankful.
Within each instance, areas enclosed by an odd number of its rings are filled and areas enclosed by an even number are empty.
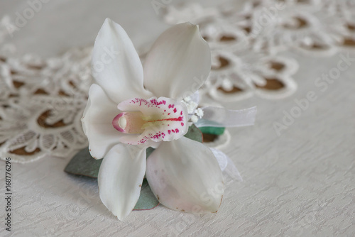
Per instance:
[[[161,143],[147,159],[146,177],[170,209],[214,213],[222,202],[222,171],[212,150],[189,138]]]

